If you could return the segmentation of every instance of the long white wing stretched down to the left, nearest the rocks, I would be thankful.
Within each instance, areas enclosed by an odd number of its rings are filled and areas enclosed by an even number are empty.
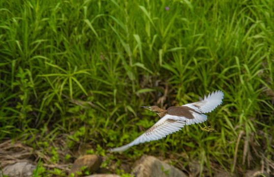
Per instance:
[[[163,118],[159,119],[151,128],[149,128],[145,133],[140,135],[131,143],[124,145],[119,148],[109,149],[111,152],[122,152],[134,145],[140,143],[150,142],[154,140],[162,139],[171,133],[177,132],[186,125],[187,118],[179,116],[165,115]]]

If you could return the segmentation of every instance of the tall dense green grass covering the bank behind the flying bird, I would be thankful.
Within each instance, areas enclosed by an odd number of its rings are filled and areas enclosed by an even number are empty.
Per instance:
[[[43,142],[68,134],[68,149],[91,141],[118,147],[142,133],[136,125],[158,119],[140,106],[182,105],[220,89],[223,104],[207,121],[218,132],[186,126],[122,154],[186,154],[174,163],[199,161],[200,176],[216,168],[241,176],[262,163],[274,170],[272,0],[2,0],[0,7],[0,140],[50,149]]]

